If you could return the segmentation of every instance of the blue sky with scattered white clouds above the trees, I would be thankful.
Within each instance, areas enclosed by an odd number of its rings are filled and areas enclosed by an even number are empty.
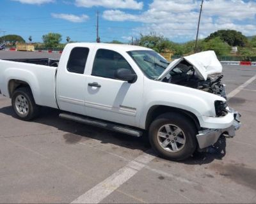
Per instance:
[[[170,40],[195,39],[201,1],[195,0],[1,0],[0,30],[28,41],[60,33],[73,41],[95,41],[100,11],[101,41],[130,41],[154,32]],[[204,1],[200,38],[218,29],[256,34],[256,1]],[[3,32],[0,33],[0,36]]]

